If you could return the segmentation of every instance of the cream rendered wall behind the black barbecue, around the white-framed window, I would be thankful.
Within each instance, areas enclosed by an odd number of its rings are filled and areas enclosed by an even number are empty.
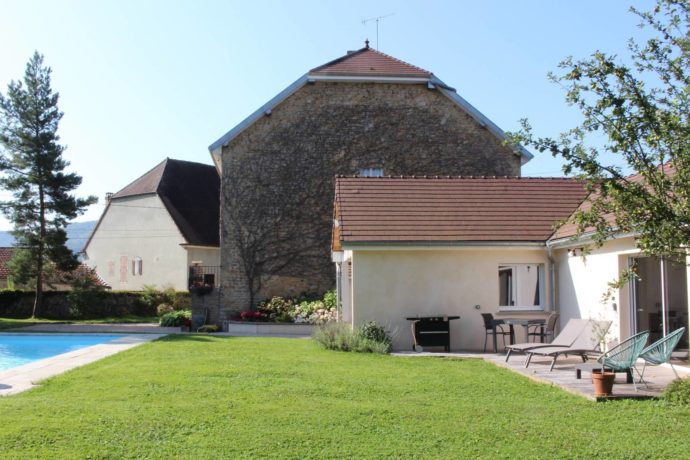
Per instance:
[[[351,320],[355,326],[371,320],[386,325],[396,332],[394,349],[411,350],[406,317],[459,315],[461,319],[450,323],[451,350],[481,350],[484,323],[480,313],[498,313],[498,267],[511,263],[544,264],[544,309],[550,310],[544,248],[353,250]],[[346,276],[343,286],[347,286]]]

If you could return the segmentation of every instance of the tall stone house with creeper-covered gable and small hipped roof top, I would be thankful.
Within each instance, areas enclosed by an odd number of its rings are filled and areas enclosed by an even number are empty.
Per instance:
[[[297,79],[210,147],[221,175],[220,321],[333,287],[338,174],[519,176],[532,155],[433,73],[367,45]]]

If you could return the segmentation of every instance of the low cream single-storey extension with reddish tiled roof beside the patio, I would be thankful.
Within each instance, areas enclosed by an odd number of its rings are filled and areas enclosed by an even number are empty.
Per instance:
[[[583,184],[565,178],[338,178],[332,257],[343,320],[386,324],[395,347],[411,349],[406,317],[460,315],[451,347],[476,350],[480,313],[556,311],[561,324],[609,319],[618,340],[684,326],[687,353],[688,267],[644,257],[634,235],[585,255],[587,234],[574,240],[570,224],[554,232],[585,198]],[[630,266],[640,279],[603,302]]]

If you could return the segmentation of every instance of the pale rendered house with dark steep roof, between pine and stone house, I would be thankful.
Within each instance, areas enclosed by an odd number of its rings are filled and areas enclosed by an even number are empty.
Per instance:
[[[119,290],[186,290],[190,274],[192,282],[215,284],[219,190],[213,166],[165,159],[106,198],[84,263]]]

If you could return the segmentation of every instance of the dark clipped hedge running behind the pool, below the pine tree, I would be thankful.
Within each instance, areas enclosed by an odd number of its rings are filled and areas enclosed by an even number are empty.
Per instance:
[[[189,296],[178,292],[178,296]],[[95,319],[127,315],[156,316],[157,305],[142,300],[140,291],[44,291],[41,317]],[[27,318],[33,310],[33,291],[0,291],[0,317]]]

